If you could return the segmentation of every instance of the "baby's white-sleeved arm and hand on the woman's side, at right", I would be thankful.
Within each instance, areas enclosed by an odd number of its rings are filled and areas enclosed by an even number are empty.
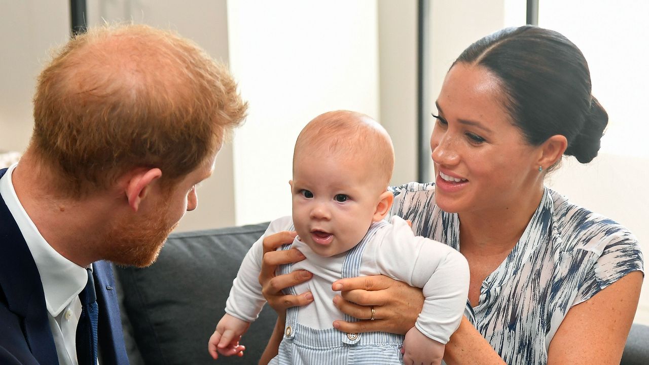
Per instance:
[[[429,346],[442,347],[435,342],[446,344],[458,329],[469,294],[467,260],[448,245],[415,237],[400,218],[393,218],[391,232],[374,253],[380,273],[422,288],[424,307],[415,328],[406,334],[404,359],[421,353],[424,358],[416,360],[430,363],[431,353],[419,351],[418,346],[426,344],[419,335],[428,338]],[[415,341],[418,345],[410,346]],[[443,347],[437,352],[443,354]]]

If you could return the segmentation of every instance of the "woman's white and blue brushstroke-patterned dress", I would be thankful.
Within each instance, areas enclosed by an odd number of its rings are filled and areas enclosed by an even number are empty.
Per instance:
[[[391,215],[415,234],[459,251],[458,214],[435,205],[432,183],[391,188]],[[465,315],[508,364],[546,364],[548,347],[573,305],[631,271],[643,271],[637,238],[545,188],[541,204],[508,257],[482,283]]]

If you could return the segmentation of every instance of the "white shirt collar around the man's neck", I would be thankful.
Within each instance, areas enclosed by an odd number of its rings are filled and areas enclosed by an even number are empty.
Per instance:
[[[56,317],[88,282],[86,269],[60,255],[45,241],[34,222],[18,200],[12,173],[18,163],[13,164],[0,178],[0,195],[5,199],[9,212],[14,216],[20,232],[32,253],[36,268],[40,273],[45,294],[45,304],[50,316]]]

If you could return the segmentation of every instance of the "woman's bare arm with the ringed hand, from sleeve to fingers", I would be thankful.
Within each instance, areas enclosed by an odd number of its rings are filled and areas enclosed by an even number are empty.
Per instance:
[[[643,274],[634,271],[591,299],[570,308],[550,343],[548,365],[619,364],[642,281]],[[404,334],[415,324],[423,303],[419,288],[388,277],[357,277],[335,284],[340,284],[336,287],[343,290],[342,297],[334,298],[340,310],[356,318],[369,318],[370,305],[374,305],[376,312],[375,321],[335,321],[334,327],[344,332]],[[444,360],[448,365],[504,364],[466,318],[448,341]]]

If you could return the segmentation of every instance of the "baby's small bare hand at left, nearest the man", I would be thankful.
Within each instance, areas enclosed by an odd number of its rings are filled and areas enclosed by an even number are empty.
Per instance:
[[[216,360],[219,353],[224,356],[243,356],[245,346],[239,345],[239,340],[245,331],[248,331],[248,327],[250,323],[247,321],[225,314],[216,325],[216,331],[210,336],[210,342],[207,344],[212,358]]]

